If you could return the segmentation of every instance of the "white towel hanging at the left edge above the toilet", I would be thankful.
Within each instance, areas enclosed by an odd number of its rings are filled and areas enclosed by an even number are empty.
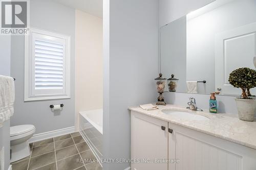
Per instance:
[[[15,89],[13,78],[0,75],[0,127],[13,115],[14,100]]]

